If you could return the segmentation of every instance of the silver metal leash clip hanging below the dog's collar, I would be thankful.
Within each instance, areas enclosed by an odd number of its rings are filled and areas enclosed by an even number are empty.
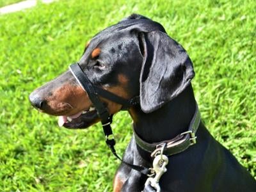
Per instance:
[[[152,170],[156,173],[154,174],[154,177],[148,177],[148,179],[145,182],[145,186],[150,184],[152,188],[156,189],[157,192],[161,191],[161,188],[159,186],[159,180],[163,173],[167,171],[166,165],[168,164],[168,157],[163,154],[164,147],[166,146],[166,143],[161,147],[161,152],[158,154],[153,161],[153,168]]]

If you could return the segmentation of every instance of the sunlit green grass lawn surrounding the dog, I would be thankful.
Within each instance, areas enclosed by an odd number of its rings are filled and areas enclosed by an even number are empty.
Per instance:
[[[120,163],[100,125],[59,128],[33,109],[29,93],[79,60],[95,33],[136,12],[163,24],[188,51],[202,118],[256,177],[254,1],[58,1],[0,15],[0,191],[111,191]],[[118,154],[131,138],[122,112]]]

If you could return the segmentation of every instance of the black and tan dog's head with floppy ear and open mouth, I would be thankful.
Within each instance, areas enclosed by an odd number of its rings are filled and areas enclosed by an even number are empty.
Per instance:
[[[155,111],[179,95],[195,76],[188,54],[163,26],[131,15],[104,29],[86,46],[79,64],[90,81],[125,99],[140,95],[143,112]],[[86,92],[68,70],[29,95],[31,104],[59,125],[85,128],[100,119]],[[100,97],[109,113],[122,106]]]

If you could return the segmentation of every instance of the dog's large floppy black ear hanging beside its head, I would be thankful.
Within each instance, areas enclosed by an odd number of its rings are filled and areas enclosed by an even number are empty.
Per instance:
[[[143,64],[140,104],[145,113],[161,108],[188,86],[195,76],[184,48],[162,31],[139,33]]]

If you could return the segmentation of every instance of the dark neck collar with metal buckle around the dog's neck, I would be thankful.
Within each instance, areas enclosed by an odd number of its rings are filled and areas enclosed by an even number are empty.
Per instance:
[[[151,153],[151,156],[154,157],[163,150],[163,154],[166,156],[172,156],[173,154],[178,154],[186,150],[190,145],[196,143],[196,131],[200,124],[200,112],[196,104],[195,114],[189,124],[188,131],[178,134],[175,138],[171,140],[161,141],[158,143],[147,143],[144,141],[136,131],[134,130],[134,138],[137,145]]]

